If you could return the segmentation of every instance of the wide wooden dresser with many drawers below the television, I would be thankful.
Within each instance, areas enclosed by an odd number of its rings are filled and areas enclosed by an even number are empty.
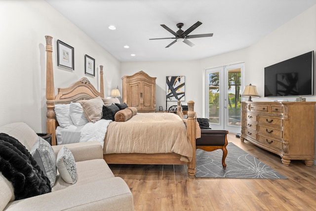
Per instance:
[[[273,152],[288,166],[315,158],[316,102],[241,102],[241,142],[244,139]]]

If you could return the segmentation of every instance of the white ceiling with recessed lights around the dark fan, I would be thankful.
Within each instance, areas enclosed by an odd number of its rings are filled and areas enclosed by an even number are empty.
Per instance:
[[[206,58],[250,46],[302,13],[316,0],[46,0],[121,62],[175,61]],[[160,24],[190,35],[211,38],[183,42],[149,40],[174,37]],[[115,25],[116,30],[108,29]],[[126,49],[123,46],[129,45]],[[130,54],[136,54],[131,56]]]

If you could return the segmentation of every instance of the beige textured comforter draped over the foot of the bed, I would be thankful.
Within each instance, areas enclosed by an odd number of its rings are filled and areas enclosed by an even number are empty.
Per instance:
[[[190,162],[192,145],[183,120],[173,113],[138,113],[108,126],[103,148],[112,153],[177,153]]]

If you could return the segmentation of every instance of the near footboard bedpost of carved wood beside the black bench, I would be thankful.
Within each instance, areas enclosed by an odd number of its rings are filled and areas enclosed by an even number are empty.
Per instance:
[[[188,102],[188,137],[192,144],[193,154],[192,161],[188,164],[189,178],[195,178],[196,176],[196,121],[194,112],[194,102]]]

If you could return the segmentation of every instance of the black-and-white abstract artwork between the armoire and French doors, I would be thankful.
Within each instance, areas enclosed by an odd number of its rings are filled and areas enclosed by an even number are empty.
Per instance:
[[[185,101],[185,76],[166,77],[166,101]]]

